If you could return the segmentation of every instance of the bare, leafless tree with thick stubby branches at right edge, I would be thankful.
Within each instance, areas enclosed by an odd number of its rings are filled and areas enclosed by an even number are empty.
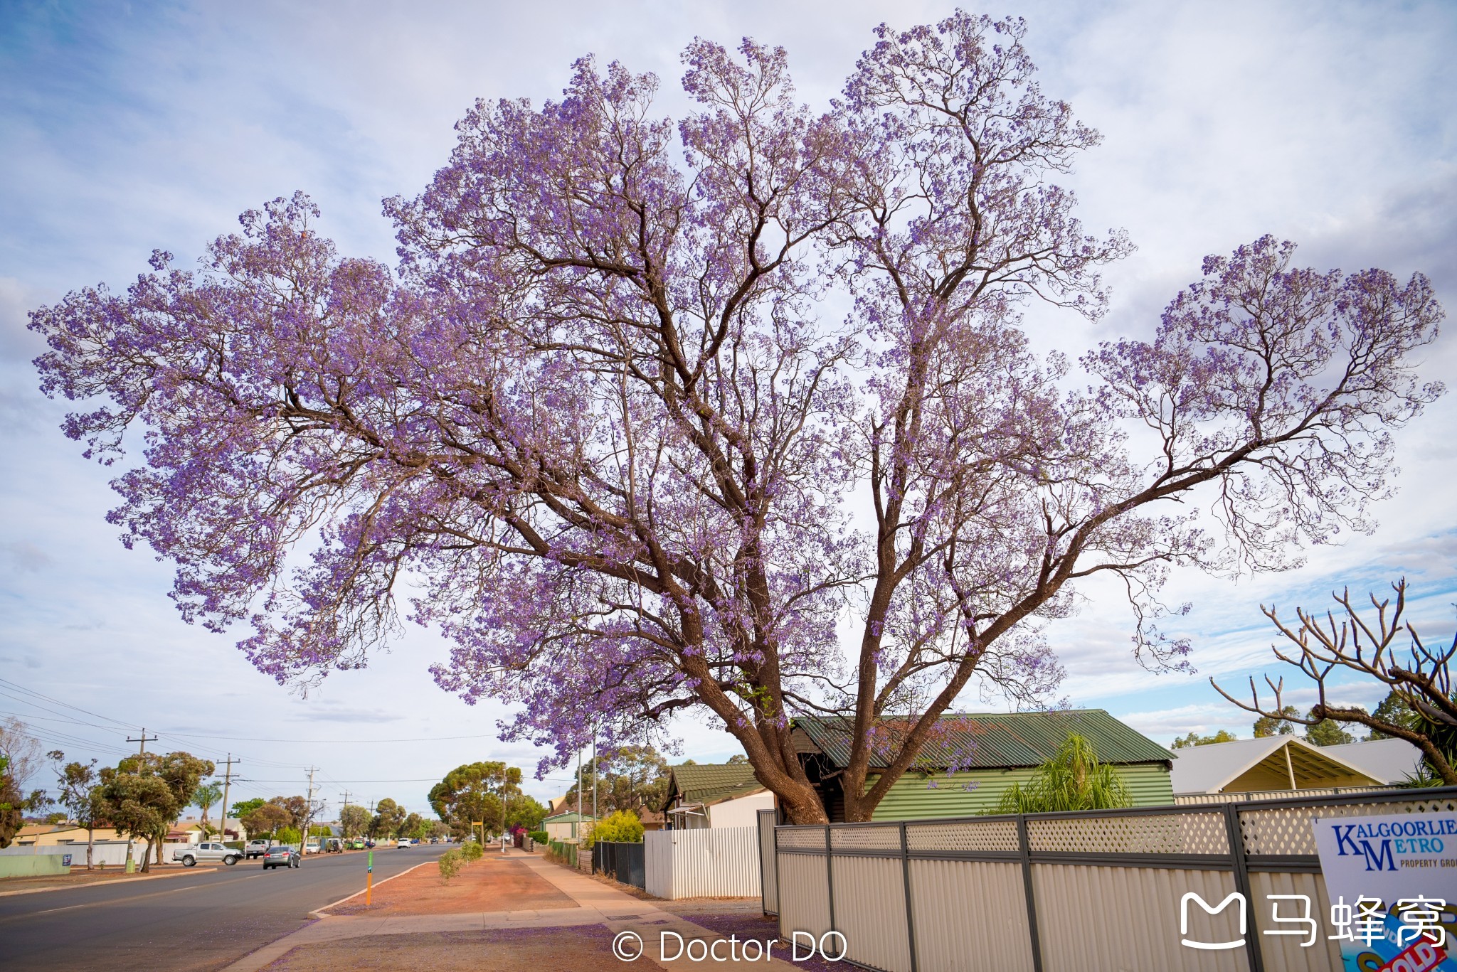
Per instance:
[[[1300,625],[1291,628],[1279,619],[1275,608],[1260,606],[1265,616],[1279,630],[1285,638],[1300,650],[1287,653],[1275,647],[1275,657],[1285,665],[1292,665],[1316,683],[1317,701],[1307,716],[1298,716],[1298,710],[1284,705],[1282,692],[1285,679],[1271,681],[1265,676],[1265,683],[1273,692],[1271,705],[1260,704],[1260,691],[1250,676],[1250,701],[1241,702],[1220,685],[1209,679],[1215,691],[1240,708],[1256,713],[1263,718],[1300,723],[1314,726],[1323,720],[1336,723],[1358,723],[1374,729],[1386,736],[1405,739],[1418,746],[1426,758],[1432,771],[1442,778],[1447,785],[1457,785],[1457,769],[1453,769],[1451,753],[1444,752],[1438,743],[1442,734],[1457,730],[1457,701],[1453,701],[1451,672],[1448,666],[1457,654],[1457,637],[1445,648],[1428,648],[1421,635],[1410,624],[1402,621],[1406,609],[1406,579],[1391,584],[1396,592],[1396,603],[1391,599],[1377,600],[1370,595],[1371,606],[1375,609],[1374,622],[1368,622],[1351,603],[1351,592],[1342,590],[1332,595],[1345,612],[1339,618],[1327,611],[1324,616],[1305,614],[1297,608],[1295,616]],[[1394,643],[1403,637],[1410,638],[1410,644],[1403,653]],[[1359,705],[1336,705],[1326,695],[1326,681],[1332,672],[1358,672],[1367,678],[1390,688],[1391,694],[1400,698],[1421,718],[1416,724],[1403,724],[1365,711]]]

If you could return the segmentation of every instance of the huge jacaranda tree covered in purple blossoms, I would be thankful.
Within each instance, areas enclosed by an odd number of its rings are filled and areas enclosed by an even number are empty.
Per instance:
[[[197,271],[157,252],[36,310],[42,388],[85,402],[89,456],[144,436],[111,520],[280,681],[363,665],[405,599],[453,646],[439,683],[514,702],[506,734],[558,762],[594,723],[610,750],[707,711],[823,820],[788,720],[828,714],[867,819],[973,678],[1056,685],[1039,625],[1085,579],[1126,589],[1144,663],[1186,666],[1166,573],[1370,529],[1391,430],[1441,392],[1423,277],[1271,238],[1206,259],[1151,341],[1036,353],[1018,307],[1099,316],[1129,246],[1056,187],[1099,136],[1023,34],[881,26],[819,114],[782,50],[695,41],[676,127],[653,76],[578,61],[559,102],[478,102],[386,201],[398,268],[275,200]]]

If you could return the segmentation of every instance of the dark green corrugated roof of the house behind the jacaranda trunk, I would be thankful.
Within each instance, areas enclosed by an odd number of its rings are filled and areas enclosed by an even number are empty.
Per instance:
[[[829,761],[844,768],[849,764],[849,724],[819,717],[796,718],[810,742]],[[1099,759],[1112,764],[1167,762],[1171,752],[1148,736],[1118,721],[1101,708],[1074,708],[1050,713],[972,713],[941,717],[941,737],[927,743],[918,767],[944,768],[953,762],[967,769],[994,767],[1036,767],[1053,755],[1068,733],[1093,743]],[[871,767],[883,767],[889,753],[871,755]]]

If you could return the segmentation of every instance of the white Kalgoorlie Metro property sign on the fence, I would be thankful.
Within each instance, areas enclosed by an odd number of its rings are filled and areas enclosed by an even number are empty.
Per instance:
[[[1457,813],[1313,825],[1348,972],[1457,972]]]

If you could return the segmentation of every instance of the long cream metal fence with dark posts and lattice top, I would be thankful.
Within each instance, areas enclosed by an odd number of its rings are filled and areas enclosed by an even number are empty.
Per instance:
[[[1457,788],[903,823],[761,816],[763,909],[781,937],[838,931],[847,960],[886,972],[1340,972],[1311,819],[1454,809]],[[1187,937],[1244,947],[1185,947],[1189,892],[1211,906],[1243,893],[1247,934],[1237,908],[1193,905]],[[1308,896],[1320,940],[1262,934],[1276,931],[1266,895]]]

